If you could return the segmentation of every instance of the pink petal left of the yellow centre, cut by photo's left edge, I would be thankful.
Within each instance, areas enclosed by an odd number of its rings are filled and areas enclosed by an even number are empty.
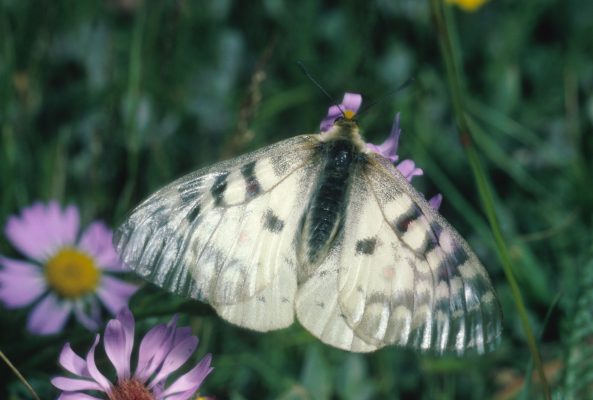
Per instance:
[[[0,301],[6,308],[29,305],[47,289],[38,266],[1,256],[0,264]]]

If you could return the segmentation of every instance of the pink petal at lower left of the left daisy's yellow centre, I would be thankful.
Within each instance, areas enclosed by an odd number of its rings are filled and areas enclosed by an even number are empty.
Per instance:
[[[72,303],[59,301],[49,293],[35,306],[27,321],[27,329],[38,335],[51,335],[60,332],[72,310]]]

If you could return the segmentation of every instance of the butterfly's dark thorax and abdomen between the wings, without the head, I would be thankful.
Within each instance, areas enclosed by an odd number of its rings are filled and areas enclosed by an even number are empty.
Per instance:
[[[298,246],[301,265],[312,270],[327,256],[342,229],[350,181],[360,156],[354,144],[344,139],[322,143],[318,151],[324,165],[303,215]]]

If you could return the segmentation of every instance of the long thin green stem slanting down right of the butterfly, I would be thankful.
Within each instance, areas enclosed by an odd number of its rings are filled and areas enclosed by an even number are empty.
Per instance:
[[[492,235],[494,236],[494,241],[496,243],[496,247],[498,250],[498,256],[502,263],[502,267],[507,282],[511,287],[513,300],[515,301],[515,306],[517,307],[517,312],[523,325],[523,331],[527,339],[529,351],[531,352],[531,356],[533,358],[533,363],[540,378],[544,397],[546,399],[551,399],[550,389],[548,387],[548,382],[544,374],[542,359],[539,354],[539,349],[536,343],[535,336],[533,335],[533,330],[531,329],[531,325],[529,324],[527,310],[525,308],[525,303],[523,302],[521,290],[519,288],[519,285],[517,284],[515,276],[513,275],[513,266],[509,255],[509,250],[504,240],[504,236],[502,234],[502,229],[498,221],[498,216],[496,215],[492,195],[492,187],[489,184],[489,180],[484,172],[482,164],[480,163],[478,152],[473,143],[472,132],[469,129],[469,124],[466,119],[465,108],[463,104],[463,90],[460,80],[461,75],[459,73],[459,66],[456,60],[457,54],[454,53],[453,43],[449,32],[449,24],[447,24],[444,9],[445,6],[443,3],[443,0],[431,0],[430,8],[433,23],[437,30],[441,52],[443,54],[443,59],[445,61],[445,68],[447,70],[447,80],[449,83],[449,90],[451,92],[451,99],[453,102],[453,109],[457,121],[457,128],[459,130],[460,141],[463,145],[465,154],[468,158],[470,167],[472,169],[474,179],[478,187],[480,199],[482,201],[482,205],[484,207],[488,223],[490,224]]]

